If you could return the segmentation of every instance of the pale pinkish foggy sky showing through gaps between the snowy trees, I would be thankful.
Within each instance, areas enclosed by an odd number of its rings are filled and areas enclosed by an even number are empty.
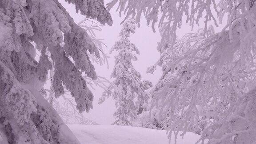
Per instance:
[[[75,6],[73,4],[68,4],[65,0],[59,0],[60,3],[66,8],[70,16],[74,19],[76,23],[79,23],[81,20],[84,20],[85,16],[76,13]],[[105,4],[110,0],[104,1]],[[93,63],[96,69],[96,73],[98,76],[103,76],[110,81],[114,79],[110,79],[110,74],[114,67],[114,56],[115,52],[109,54],[110,49],[115,44],[117,40],[120,39],[119,32],[121,31],[122,25],[120,25],[121,21],[124,20],[124,15],[119,17],[119,12],[116,12],[116,6],[112,8],[110,14],[112,16],[113,24],[112,26],[102,26],[102,31],[96,33],[96,38],[104,39],[102,42],[106,44],[108,48],[104,48],[104,53],[108,54],[110,58],[108,59],[109,69],[107,64],[100,66],[100,64]],[[95,20],[96,22],[96,20]],[[200,22],[200,24],[204,24],[204,22]],[[212,23],[214,26],[214,24]],[[157,25],[156,25],[157,26]],[[215,32],[218,32],[220,28],[215,28]],[[198,29],[197,26],[193,28],[193,32],[196,32]],[[191,27],[185,23],[185,18],[183,19],[182,28],[177,30],[177,36],[181,37],[186,33],[192,32]],[[133,61],[132,64],[136,71],[140,72],[142,80],[150,80],[153,86],[157,83],[160,76],[162,75],[161,68],[157,68],[153,74],[146,73],[147,68],[156,63],[156,61],[160,57],[160,53],[157,52],[157,42],[160,41],[160,33],[158,32],[158,28],[156,28],[156,32],[152,31],[151,25],[147,26],[147,22],[144,17],[140,20],[140,28],[136,28],[136,32],[130,35],[130,41],[134,43],[140,50],[140,55],[136,55],[138,57],[137,61]],[[100,87],[95,87],[96,90],[91,91],[94,95],[93,100],[93,109],[90,112],[84,112],[84,116],[89,120],[93,120],[98,124],[109,125],[115,121],[113,114],[116,110],[115,101],[112,98],[108,98],[105,100],[103,104],[98,104],[98,100],[104,91]]]

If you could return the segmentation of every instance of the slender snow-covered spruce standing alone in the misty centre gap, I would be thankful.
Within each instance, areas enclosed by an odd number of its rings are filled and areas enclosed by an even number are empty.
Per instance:
[[[110,51],[111,53],[118,52],[115,56],[115,67],[111,73],[111,77],[116,79],[113,84],[118,87],[118,90],[110,86],[99,101],[102,103],[108,96],[112,96],[116,100],[117,110],[114,113],[116,117],[114,125],[132,125],[136,115],[142,112],[143,104],[148,102],[148,93],[145,90],[152,87],[151,82],[141,80],[140,73],[132,65],[132,60],[137,60],[133,52],[140,54],[139,49],[128,40],[130,33],[135,32],[135,28],[133,19],[128,19],[123,24],[119,34],[121,39]]]

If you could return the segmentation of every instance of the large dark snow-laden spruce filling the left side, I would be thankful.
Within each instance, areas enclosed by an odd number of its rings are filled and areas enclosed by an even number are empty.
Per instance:
[[[103,1],[66,1],[82,15],[112,24]],[[38,62],[31,42],[41,53]],[[47,51],[53,63],[55,97],[63,94],[64,84],[76,108],[88,112],[93,96],[81,73],[96,78],[87,51],[99,54],[88,34],[58,0],[0,0],[0,124],[10,144],[79,143],[39,92],[52,68]]]

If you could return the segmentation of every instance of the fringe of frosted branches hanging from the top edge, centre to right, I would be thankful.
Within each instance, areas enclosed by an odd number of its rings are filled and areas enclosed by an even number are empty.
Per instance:
[[[160,28],[162,40],[168,37],[173,45],[176,40],[176,30],[181,28],[184,21],[191,28],[200,25],[204,28],[204,35],[208,36],[208,26],[213,22],[215,26],[224,24],[224,29],[231,29],[237,16],[244,17],[245,11],[254,11],[254,0],[112,0],[107,4],[108,11],[118,5],[116,11],[124,13],[123,22],[132,16],[140,26],[143,17],[151,24],[153,31]],[[240,11],[241,10],[241,11]],[[249,12],[251,13],[251,12]],[[253,14],[250,14],[253,17]],[[228,18],[226,19],[225,16]],[[204,24],[200,24],[204,23]]]

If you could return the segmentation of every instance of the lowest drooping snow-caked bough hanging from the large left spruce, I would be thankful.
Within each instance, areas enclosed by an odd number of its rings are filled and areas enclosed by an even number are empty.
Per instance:
[[[92,108],[93,96],[92,92],[87,88],[86,82],[81,76],[81,72],[78,71],[75,65],[65,56],[63,48],[60,45],[50,48],[50,52],[52,53],[55,69],[52,84],[55,96],[58,97],[64,94],[64,88],[62,86],[62,84],[64,84],[65,88],[71,92],[71,96],[75,98],[77,104],[76,108],[79,112],[85,110],[89,112]]]

